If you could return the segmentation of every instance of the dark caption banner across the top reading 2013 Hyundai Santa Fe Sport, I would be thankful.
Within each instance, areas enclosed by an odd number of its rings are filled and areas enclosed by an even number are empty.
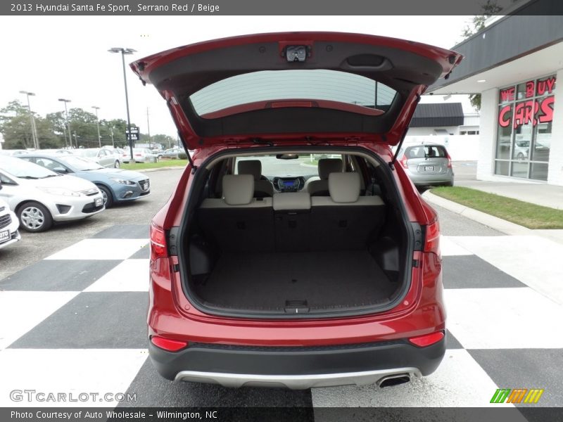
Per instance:
[[[484,0],[8,0],[1,15],[482,15]],[[498,15],[563,15],[563,1],[495,0]],[[424,22],[421,22],[422,27]],[[421,27],[421,30],[422,30]]]

